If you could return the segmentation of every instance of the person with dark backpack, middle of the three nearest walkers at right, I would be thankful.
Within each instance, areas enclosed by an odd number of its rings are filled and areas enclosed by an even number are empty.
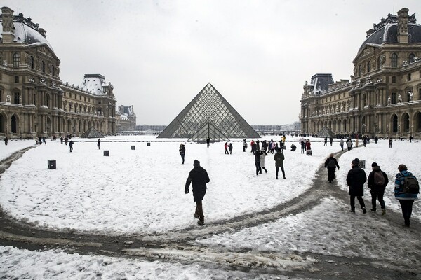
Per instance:
[[[377,162],[371,164],[373,169],[370,174],[368,174],[367,186],[370,189],[371,193],[371,211],[376,211],[376,200],[379,201],[380,207],[382,207],[382,216],[386,214],[385,200],[383,200],[383,195],[385,195],[385,188],[389,179],[385,172],[382,172],[380,166],[377,165]]]

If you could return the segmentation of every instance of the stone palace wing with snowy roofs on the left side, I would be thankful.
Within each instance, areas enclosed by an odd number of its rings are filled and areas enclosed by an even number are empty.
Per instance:
[[[79,136],[89,127],[116,133],[116,99],[104,76],[62,83],[46,31],[8,7],[0,21],[0,137]]]

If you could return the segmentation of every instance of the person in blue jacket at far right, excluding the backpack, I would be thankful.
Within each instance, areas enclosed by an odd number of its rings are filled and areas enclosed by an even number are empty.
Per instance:
[[[405,220],[403,226],[405,228],[409,228],[409,220],[412,214],[413,204],[414,201],[418,199],[418,194],[403,192],[403,185],[405,182],[405,177],[413,177],[415,179],[417,178],[413,176],[411,172],[408,172],[408,167],[406,167],[406,165],[399,165],[398,170],[399,173],[396,174],[394,194],[396,200],[399,200],[399,204],[401,204],[402,215],[403,219]]]

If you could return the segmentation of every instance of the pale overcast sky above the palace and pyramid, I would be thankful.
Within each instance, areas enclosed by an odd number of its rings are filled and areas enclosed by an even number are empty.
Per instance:
[[[315,73],[349,79],[366,31],[420,0],[1,0],[46,29],[60,78],[100,73],[137,123],[168,125],[207,84],[250,125],[298,120]]]

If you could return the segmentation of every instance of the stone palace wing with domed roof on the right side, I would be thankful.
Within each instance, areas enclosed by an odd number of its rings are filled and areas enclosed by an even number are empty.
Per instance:
[[[373,29],[353,61],[351,80],[319,73],[305,83],[301,132],[421,137],[421,25],[402,8]]]

